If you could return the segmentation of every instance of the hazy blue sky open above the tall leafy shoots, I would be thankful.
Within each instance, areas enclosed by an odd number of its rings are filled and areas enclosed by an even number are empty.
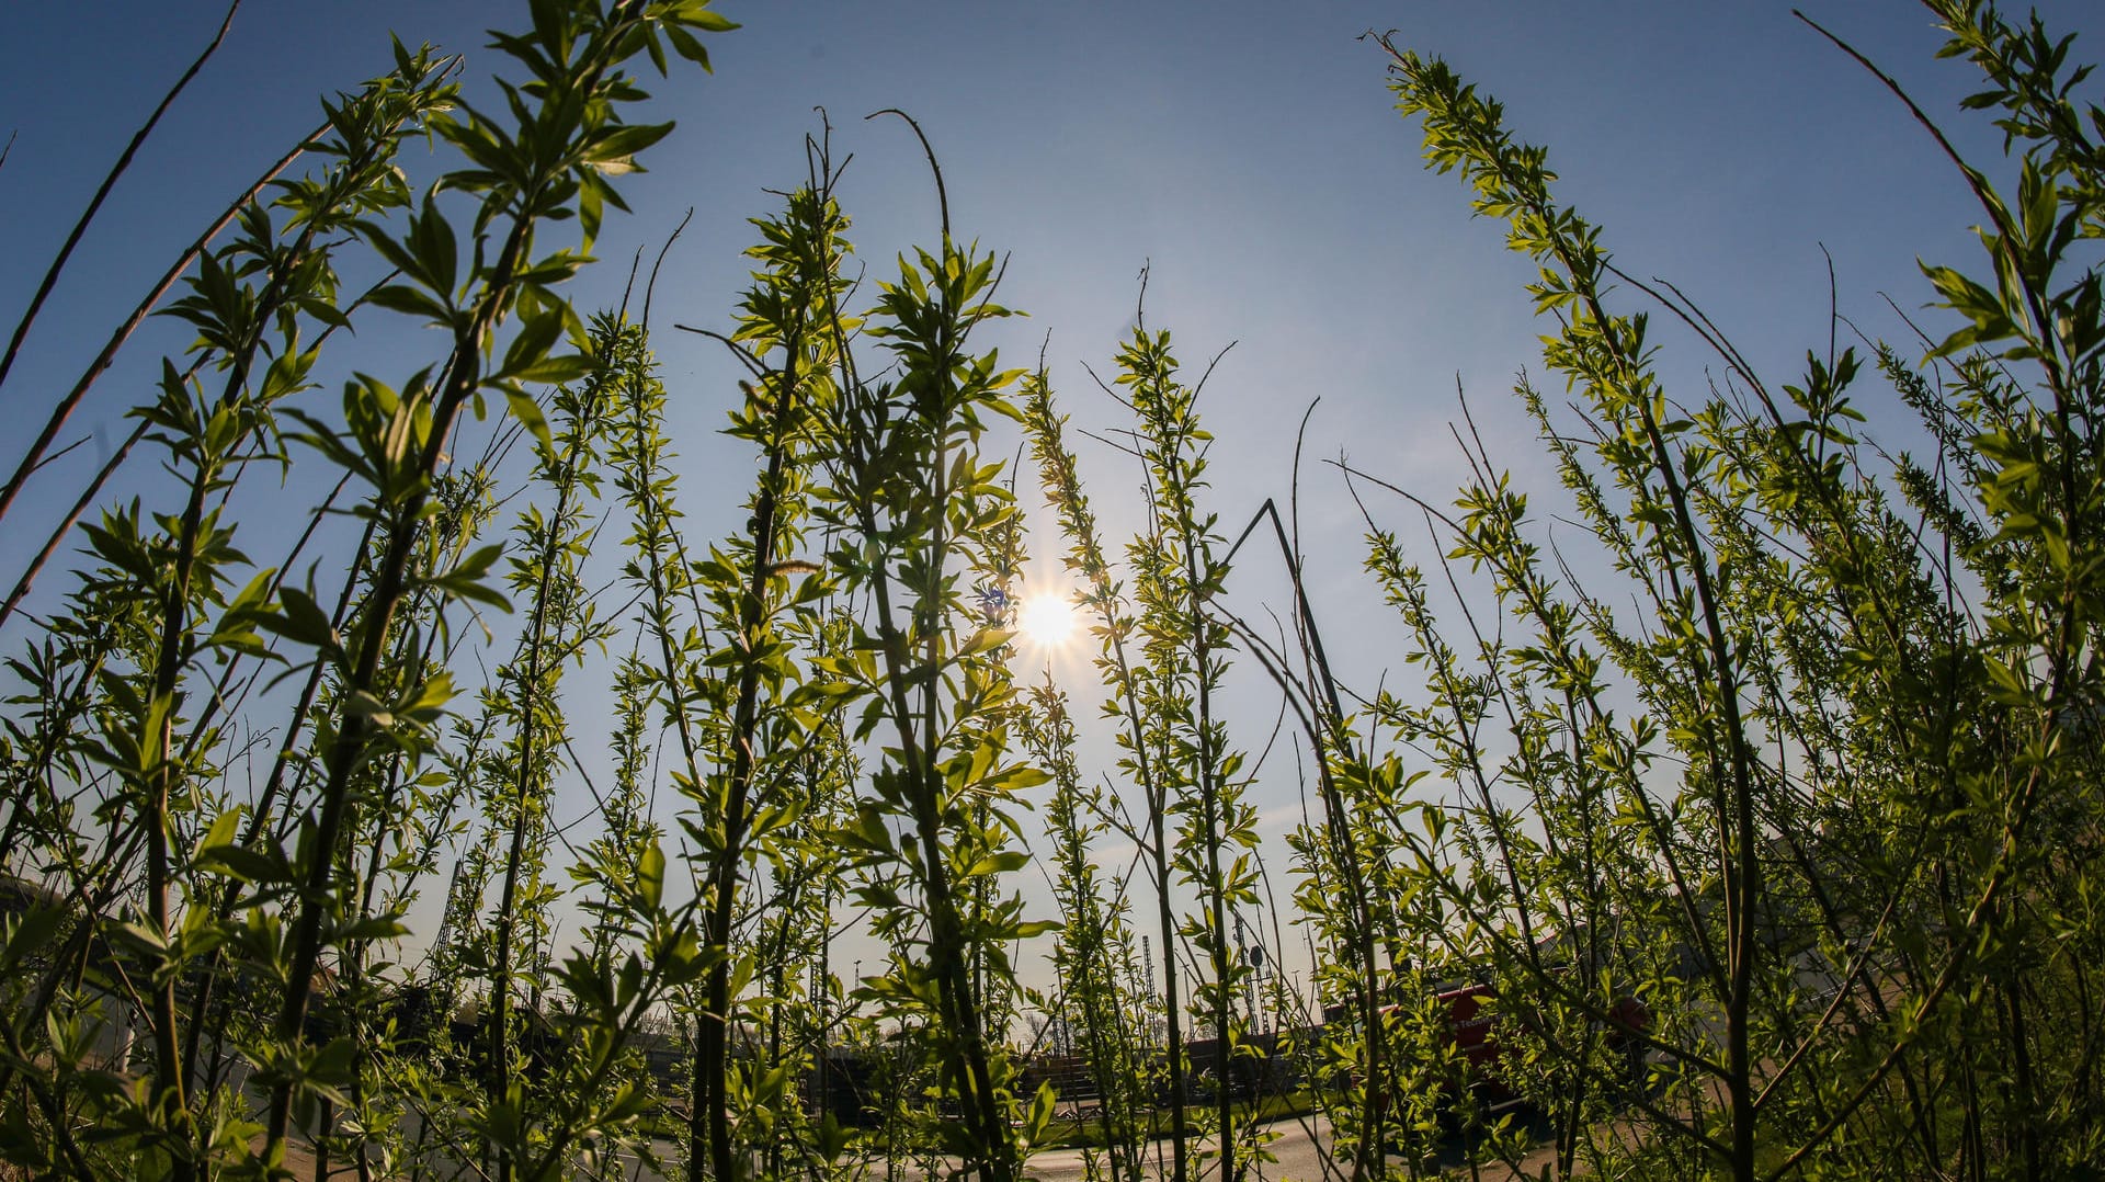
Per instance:
[[[72,217],[221,11],[189,0],[0,11],[0,135],[19,133],[0,169],[0,322],[13,324]],[[389,29],[465,48],[469,78],[486,86],[497,55],[482,51],[482,29],[520,23],[520,11],[248,0],[91,230],[0,390],[6,419],[42,419],[55,388],[175,251],[316,122],[316,93],[385,67]],[[695,206],[655,316],[701,533],[737,527],[749,457],[714,436],[735,396],[718,346],[665,324],[728,324],[745,274],[743,219],[773,206],[764,190],[802,177],[815,105],[831,112],[838,154],[855,154],[842,200],[874,274],[895,251],[930,242],[937,215],[905,126],[861,116],[903,107],[922,120],[958,234],[1010,253],[1004,303],[1029,312],[989,339],[1010,365],[1048,341],[1076,426],[1124,426],[1082,362],[1105,371],[1143,261],[1154,268],[1149,322],[1179,335],[1194,371],[1236,343],[1202,402],[1217,434],[1225,529],[1238,531],[1263,497],[1286,495],[1295,423],[1322,396],[1303,525],[1318,613],[1351,638],[1383,636],[1381,605],[1358,575],[1362,523],[1318,459],[1345,453],[1444,499],[1463,474],[1446,436],[1461,383],[1495,455],[1524,485],[1545,485],[1532,430],[1505,396],[1516,371],[1539,369],[1541,327],[1522,293],[1532,270],[1501,249],[1497,225],[1467,215],[1452,177],[1421,171],[1417,129],[1391,110],[1383,55],[1358,34],[1396,29],[1400,44],[1446,57],[1501,97],[1520,137],[1551,145],[1560,196],[1606,228],[1617,261],[1676,280],[1772,379],[1825,348],[1823,244],[1842,312],[1897,339],[1882,295],[1911,312],[1928,299],[1916,259],[1972,265],[1979,255],[1966,232],[1979,213],[1928,137],[1779,2],[724,0],[720,11],[745,27],[711,40],[714,76],[646,80],[653,118],[676,118],[680,131],[625,183],[636,215],[608,223],[606,265],[575,289],[587,310],[619,301],[629,255],[655,251]],[[1897,74],[1977,162],[1993,160],[1996,133],[1956,110],[1974,78],[1964,63],[1932,61],[1939,36],[1924,8],[1812,0],[1808,13]],[[2105,13],[2094,4],[2042,13],[2086,34],[2078,57],[2101,53]],[[1697,394],[1707,358],[1671,331],[1661,339],[1665,373]],[[135,341],[65,440],[122,436],[122,409],[145,390],[160,352],[181,343],[171,324]],[[1890,396],[1865,386],[1863,398],[1876,426],[1905,434]],[[0,461],[11,468],[25,442],[23,426],[0,432]],[[13,582],[93,451],[32,487],[0,535],[0,579]],[[1128,531],[1130,464],[1086,449],[1084,466],[1107,527]],[[1415,516],[1400,504],[1377,508],[1394,510],[1391,525],[1408,533]],[[1252,611],[1284,603],[1261,565],[1238,596]],[[0,641],[17,645],[19,626]],[[1332,649],[1345,649],[1362,685],[1383,668],[1385,643],[1332,638]],[[1269,725],[1263,687],[1242,693],[1242,708]],[[1250,744],[1263,742],[1261,729]],[[1288,801],[1274,792],[1267,807]]]

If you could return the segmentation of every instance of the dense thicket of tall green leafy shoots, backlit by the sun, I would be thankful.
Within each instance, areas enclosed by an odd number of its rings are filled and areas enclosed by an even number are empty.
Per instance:
[[[0,1169],[994,1182],[1076,1136],[1090,1178],[1185,1182],[1265,1167],[1250,1104],[1297,1089],[1354,1180],[2097,1176],[2105,112],[2038,21],[1928,6],[2008,137],[2008,192],[1953,156],[1985,261],[1924,268],[1958,327],[1920,360],[1838,333],[1789,383],[1623,276],[1497,101],[1379,42],[1429,166],[1539,263],[1570,405],[1516,396],[1596,554],[1545,546],[1474,428],[1450,504],[1343,470],[1408,638],[1364,693],[1278,510],[1234,544],[1208,510],[1170,333],[1141,316],[1103,383],[1145,491],[1116,548],[1048,371],[975,339],[1010,314],[998,255],[939,196],[933,247],[855,278],[829,131],[705,333],[747,373],[722,394],[756,476],[741,525],[693,533],[648,314],[560,284],[671,131],[623,122],[627,70],[707,67],[733,25],[535,0],[488,110],[398,44],[171,270],[196,343],[80,506],[135,445],[171,499],[67,518],[0,609]],[[410,137],[457,166],[419,185]],[[354,255],[387,274],[347,295]],[[1669,390],[1648,314],[1722,381]],[[339,365],[379,316],[442,346]],[[1873,381],[1911,449],[1867,438]],[[1097,685],[1013,672],[1017,438]],[[303,529],[250,556],[280,480]],[[1271,632],[1223,607],[1267,516]],[[82,556],[32,615],[61,539]],[[1299,729],[1284,849],[1231,672]],[[1324,950],[1311,999],[1257,997],[1274,874]],[[871,971],[836,961],[850,929]]]

